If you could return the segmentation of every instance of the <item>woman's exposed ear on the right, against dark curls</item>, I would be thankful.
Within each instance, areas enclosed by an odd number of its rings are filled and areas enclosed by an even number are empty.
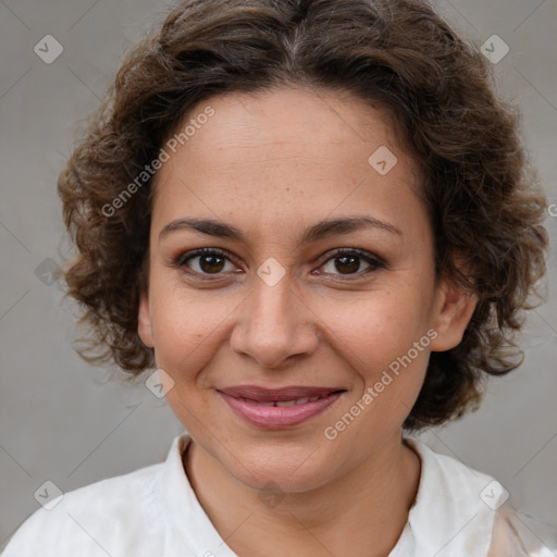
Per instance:
[[[441,282],[433,321],[433,329],[437,333],[435,339],[431,342],[433,351],[450,350],[460,344],[476,302],[475,294],[450,280]]]

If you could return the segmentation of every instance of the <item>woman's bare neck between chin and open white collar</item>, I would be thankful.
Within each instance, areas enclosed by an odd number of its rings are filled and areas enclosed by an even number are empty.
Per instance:
[[[406,525],[420,479],[420,459],[400,435],[325,485],[274,499],[259,497],[194,442],[184,468],[216,531],[240,557],[386,557]]]

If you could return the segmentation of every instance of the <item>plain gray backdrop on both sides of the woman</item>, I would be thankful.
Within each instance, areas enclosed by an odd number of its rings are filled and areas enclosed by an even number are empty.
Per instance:
[[[524,140],[557,203],[555,0],[438,0],[478,45],[499,35],[510,52],[494,66],[499,94],[523,113]],[[123,53],[160,21],[153,0],[0,1],[0,550],[53,481],[66,492],[163,460],[182,432],[144,385],[108,382],[110,370],[74,352],[74,309],[36,274],[67,252],[55,180],[76,125],[94,110]],[[64,51],[45,63],[34,47],[53,35]],[[554,214],[557,214],[557,207]],[[557,218],[546,226],[556,237]],[[497,478],[516,507],[557,523],[557,304],[555,246],[548,302],[531,313],[524,364],[493,381],[474,414],[423,438]],[[45,260],[47,262],[45,263]],[[39,273],[41,274],[41,273]],[[47,276],[48,277],[48,276]]]

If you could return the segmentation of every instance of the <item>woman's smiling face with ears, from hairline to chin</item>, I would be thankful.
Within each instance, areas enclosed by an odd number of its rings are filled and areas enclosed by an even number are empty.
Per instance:
[[[284,88],[191,119],[157,175],[139,335],[208,458],[253,488],[315,488],[399,443],[430,351],[473,308],[434,280],[420,178],[383,112]]]

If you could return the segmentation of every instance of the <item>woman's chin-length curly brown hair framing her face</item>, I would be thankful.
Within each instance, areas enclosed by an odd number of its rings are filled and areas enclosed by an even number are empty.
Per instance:
[[[521,362],[513,334],[545,273],[546,200],[483,55],[422,0],[185,0],[171,11],[127,55],[59,177],[78,250],[67,294],[87,325],[78,351],[114,361],[128,380],[154,367],[137,333],[152,177],[107,208],[200,101],[285,84],[383,108],[419,163],[436,275],[475,293],[478,305],[459,346],[431,354],[404,425],[462,416],[478,406],[485,374]]]

